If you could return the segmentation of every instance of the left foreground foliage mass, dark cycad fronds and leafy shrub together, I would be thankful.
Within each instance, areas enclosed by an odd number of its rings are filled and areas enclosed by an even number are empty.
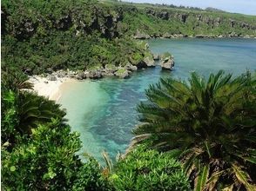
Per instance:
[[[1,183],[3,190],[111,190],[98,161],[77,151],[77,132],[64,124],[64,111],[25,91],[13,76],[2,81]],[[18,79],[20,81],[18,81]]]

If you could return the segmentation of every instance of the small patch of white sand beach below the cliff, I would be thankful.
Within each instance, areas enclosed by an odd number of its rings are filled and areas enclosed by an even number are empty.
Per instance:
[[[74,81],[71,78],[57,78],[57,81],[49,81],[45,77],[31,76],[29,82],[34,85],[37,95],[43,95],[50,100],[57,101],[60,97],[60,86],[64,82]]]

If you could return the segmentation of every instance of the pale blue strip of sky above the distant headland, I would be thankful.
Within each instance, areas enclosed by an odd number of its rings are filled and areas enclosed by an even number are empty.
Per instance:
[[[199,7],[213,7],[228,12],[256,15],[256,0],[123,0],[133,3],[165,3]]]

